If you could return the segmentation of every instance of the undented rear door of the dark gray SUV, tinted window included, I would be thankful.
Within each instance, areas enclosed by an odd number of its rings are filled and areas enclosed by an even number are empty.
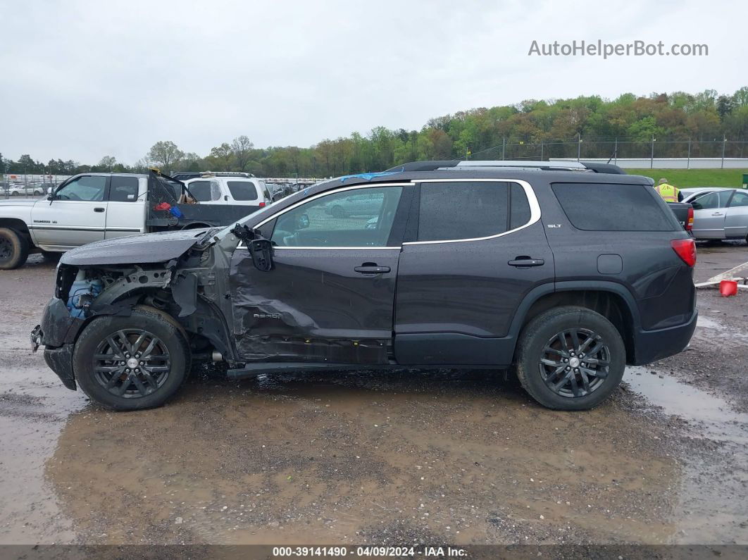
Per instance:
[[[507,365],[509,325],[527,292],[554,280],[524,181],[420,182],[400,256],[395,359]]]

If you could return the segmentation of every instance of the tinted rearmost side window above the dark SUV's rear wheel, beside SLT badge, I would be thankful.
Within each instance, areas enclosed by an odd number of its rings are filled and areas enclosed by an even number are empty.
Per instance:
[[[568,220],[577,230],[680,229],[675,216],[660,206],[654,198],[654,190],[649,185],[557,182],[552,188]]]

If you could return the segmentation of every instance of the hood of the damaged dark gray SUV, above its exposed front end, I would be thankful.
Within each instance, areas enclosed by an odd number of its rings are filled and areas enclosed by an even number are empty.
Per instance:
[[[64,253],[60,262],[73,266],[165,262],[182,256],[208,229],[143,233],[95,241]]]

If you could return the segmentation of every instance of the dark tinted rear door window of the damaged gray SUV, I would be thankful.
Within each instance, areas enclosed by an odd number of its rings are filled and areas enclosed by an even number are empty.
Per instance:
[[[518,214],[527,213],[527,197],[517,185]],[[518,192],[519,192],[518,191]],[[475,239],[505,233],[509,225],[509,183],[490,181],[421,184],[418,241]],[[521,217],[518,216],[518,220]],[[512,224],[513,225],[513,224]]]

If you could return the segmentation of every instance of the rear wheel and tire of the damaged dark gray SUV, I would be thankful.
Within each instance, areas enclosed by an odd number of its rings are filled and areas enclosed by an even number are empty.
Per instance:
[[[554,410],[589,410],[621,382],[626,348],[618,329],[599,313],[557,307],[524,327],[516,358],[522,387],[540,404]]]

